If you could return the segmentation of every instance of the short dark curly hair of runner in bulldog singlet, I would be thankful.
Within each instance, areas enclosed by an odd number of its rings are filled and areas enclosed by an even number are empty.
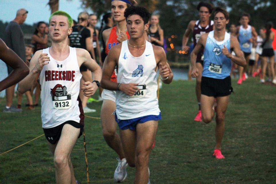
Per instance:
[[[149,20],[150,20],[150,13],[149,13],[149,11],[145,7],[143,7],[143,6],[131,6],[131,7],[128,7],[124,11],[124,17],[127,19],[131,15],[139,15],[143,19],[144,24],[147,24],[149,22]]]

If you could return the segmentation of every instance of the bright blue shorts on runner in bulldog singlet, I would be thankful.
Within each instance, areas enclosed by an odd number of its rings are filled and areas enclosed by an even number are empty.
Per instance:
[[[120,120],[118,119],[115,113],[115,120],[118,123],[118,126],[121,130],[127,130],[127,129],[136,130],[136,126],[138,123],[161,120],[161,112],[159,113],[159,115],[148,115],[148,116],[142,116],[139,118],[133,118],[129,120]]]

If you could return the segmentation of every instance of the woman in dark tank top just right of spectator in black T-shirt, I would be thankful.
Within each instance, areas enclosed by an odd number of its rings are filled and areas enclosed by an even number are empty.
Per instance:
[[[99,65],[103,66],[103,62],[101,60],[101,50],[99,45],[99,30],[95,28],[97,24],[97,16],[95,14],[90,14],[88,18],[88,26],[87,28],[91,33],[91,41],[93,45],[94,55],[93,59],[96,61],[98,57]]]

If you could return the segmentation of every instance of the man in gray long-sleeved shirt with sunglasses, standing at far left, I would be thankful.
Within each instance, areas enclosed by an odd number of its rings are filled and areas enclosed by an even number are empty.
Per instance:
[[[26,61],[25,56],[25,42],[24,35],[20,28],[20,24],[23,24],[27,18],[28,11],[26,9],[19,9],[16,12],[16,18],[9,22],[5,28],[5,43],[13,50],[24,62]],[[13,71],[13,68],[7,65],[8,74]],[[21,112],[22,109],[14,108],[12,106],[12,98],[14,96],[15,85],[6,89],[6,106],[4,112]]]

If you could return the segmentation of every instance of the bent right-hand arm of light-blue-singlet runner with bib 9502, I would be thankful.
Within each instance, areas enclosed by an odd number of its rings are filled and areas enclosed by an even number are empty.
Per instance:
[[[229,53],[227,48],[222,49],[223,55],[226,55],[228,58],[230,58],[235,64],[239,66],[246,66],[246,60],[244,59],[244,55],[239,47],[239,42],[236,37],[231,36],[230,38],[230,48],[233,49],[235,52],[235,55],[232,55]]]

